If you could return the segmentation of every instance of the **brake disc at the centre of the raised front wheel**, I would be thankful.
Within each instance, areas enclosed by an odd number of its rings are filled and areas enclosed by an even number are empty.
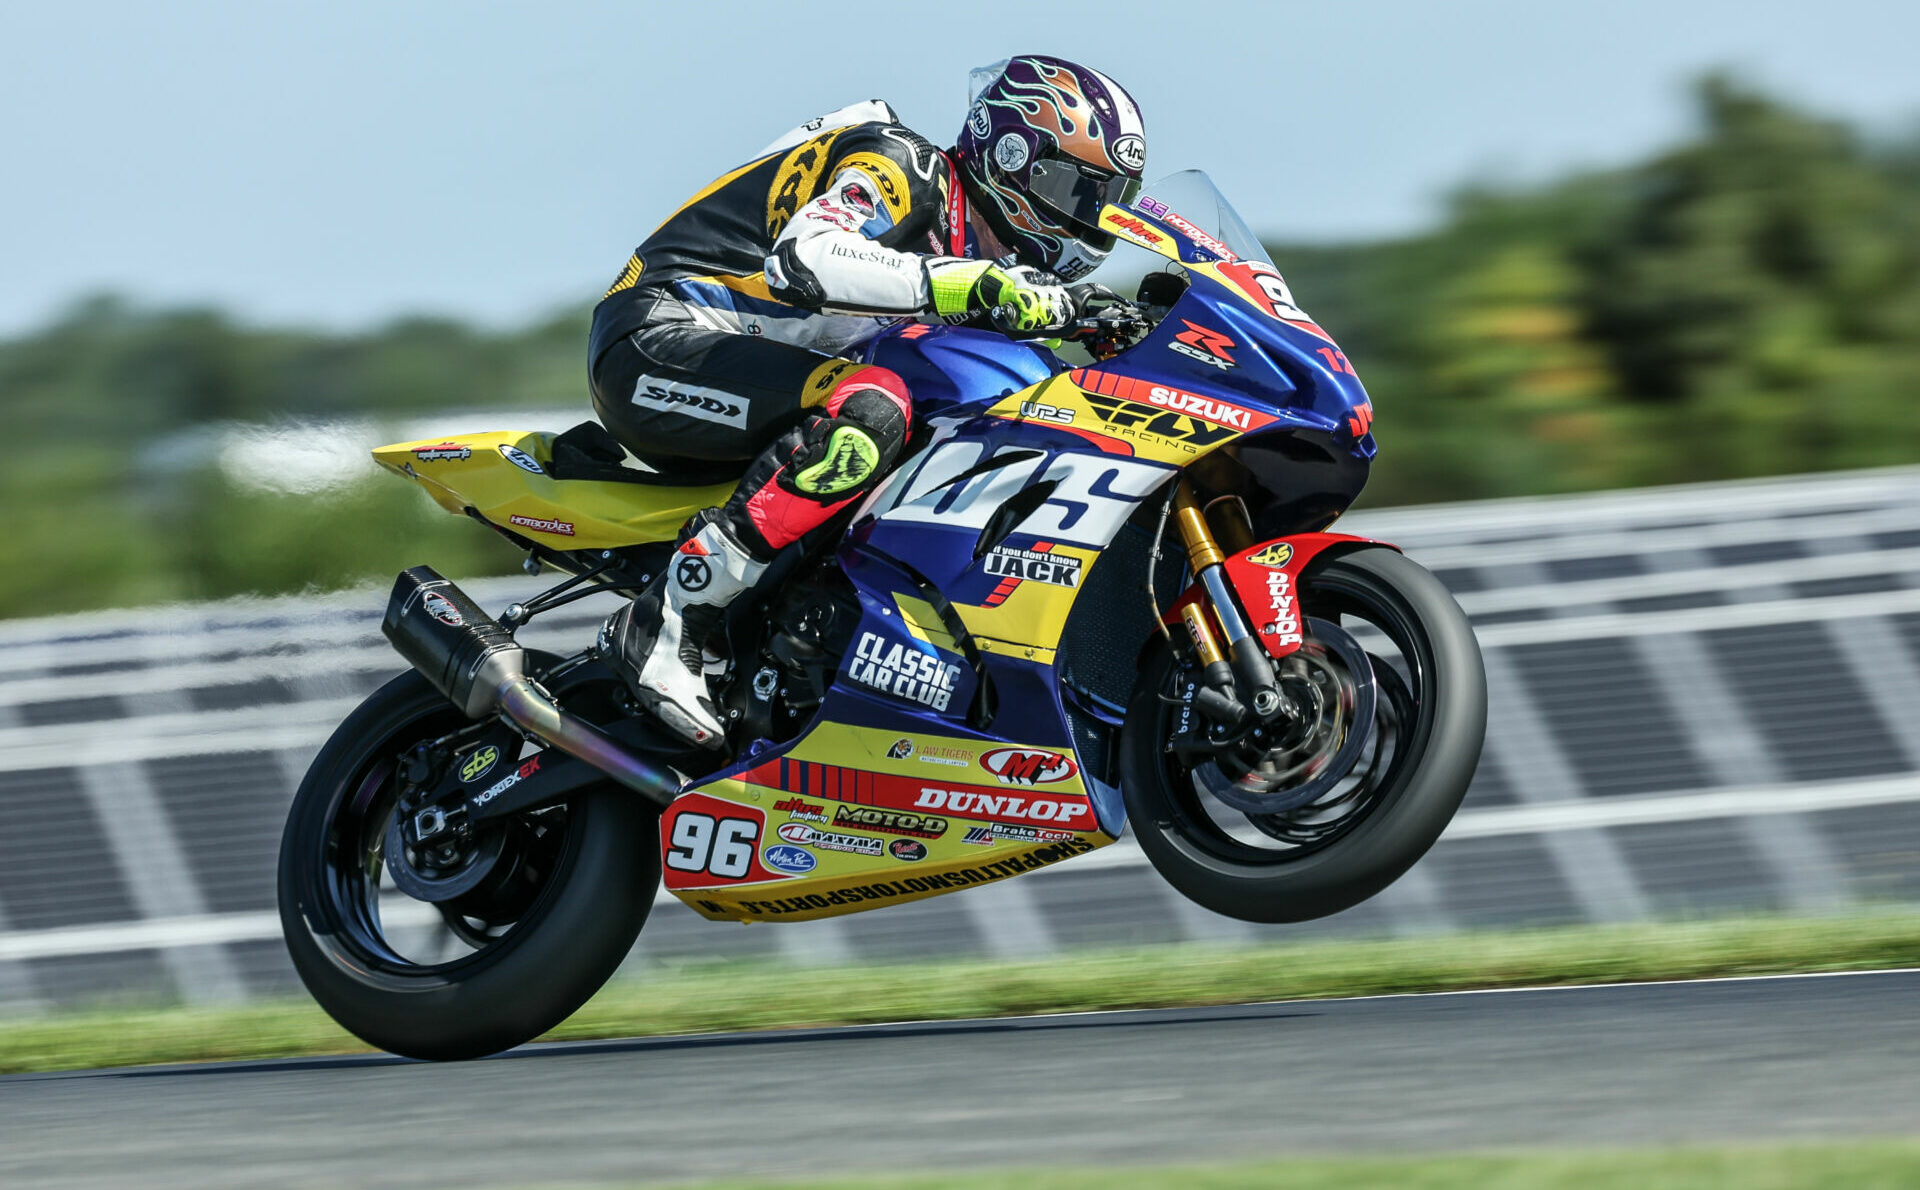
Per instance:
[[[1309,616],[1306,643],[1281,666],[1281,689],[1300,716],[1192,770],[1208,793],[1244,814],[1286,814],[1327,797],[1373,735],[1373,662],[1352,633]]]

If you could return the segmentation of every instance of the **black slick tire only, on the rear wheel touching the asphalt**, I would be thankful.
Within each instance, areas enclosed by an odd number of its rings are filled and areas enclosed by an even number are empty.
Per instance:
[[[353,846],[336,825],[376,766],[463,724],[419,674],[386,683],[321,749],[280,841],[280,925],[300,979],[344,1029],[405,1058],[480,1058],[559,1025],[632,950],[660,883],[655,814],[595,785],[566,804],[551,875],[509,933],[438,965],[382,954],[340,892]]]

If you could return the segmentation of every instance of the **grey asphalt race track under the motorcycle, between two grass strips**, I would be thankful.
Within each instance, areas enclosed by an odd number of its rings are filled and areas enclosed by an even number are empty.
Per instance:
[[[1920,1132],[1920,971],[0,1079],[0,1184],[680,1180]]]

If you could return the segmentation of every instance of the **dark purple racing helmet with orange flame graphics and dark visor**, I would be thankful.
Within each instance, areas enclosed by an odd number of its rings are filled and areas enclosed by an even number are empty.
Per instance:
[[[991,79],[954,144],[968,198],[1023,263],[1085,276],[1114,250],[1100,207],[1140,190],[1140,109],[1100,71],[1060,58],[1012,58]]]

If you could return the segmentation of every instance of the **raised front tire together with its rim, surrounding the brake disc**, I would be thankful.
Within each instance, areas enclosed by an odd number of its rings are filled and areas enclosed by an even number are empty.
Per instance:
[[[1400,879],[1452,821],[1486,737],[1480,649],[1440,580],[1367,547],[1315,562],[1300,587],[1308,616],[1375,641],[1375,739],[1352,777],[1286,814],[1244,814],[1210,797],[1165,747],[1179,662],[1164,639],[1121,731],[1121,793],[1140,850],[1190,900],[1242,921],[1325,917]]]

